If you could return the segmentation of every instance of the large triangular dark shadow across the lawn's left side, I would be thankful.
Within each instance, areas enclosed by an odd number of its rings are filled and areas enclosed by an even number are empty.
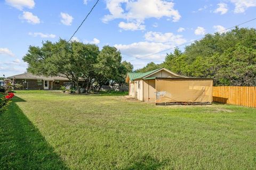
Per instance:
[[[21,101],[14,97],[0,116],[0,169],[68,169],[15,104]]]

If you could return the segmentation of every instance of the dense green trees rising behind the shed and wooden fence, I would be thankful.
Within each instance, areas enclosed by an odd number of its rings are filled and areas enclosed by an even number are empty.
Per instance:
[[[182,53],[167,54],[163,67],[191,77],[213,78],[216,86],[256,86],[256,29],[206,35]]]

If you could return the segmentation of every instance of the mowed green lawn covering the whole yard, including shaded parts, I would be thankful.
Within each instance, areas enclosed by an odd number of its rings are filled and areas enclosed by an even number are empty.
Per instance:
[[[255,169],[256,109],[18,91],[0,169]]]

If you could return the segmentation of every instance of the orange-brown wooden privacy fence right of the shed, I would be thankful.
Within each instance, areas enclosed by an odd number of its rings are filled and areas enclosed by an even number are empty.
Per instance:
[[[256,87],[216,86],[212,95],[219,103],[256,107]]]

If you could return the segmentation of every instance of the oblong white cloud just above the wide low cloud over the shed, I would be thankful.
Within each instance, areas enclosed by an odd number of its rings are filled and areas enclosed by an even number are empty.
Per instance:
[[[172,45],[180,45],[186,42],[182,35],[174,35],[172,32],[153,32],[149,31],[145,34],[147,41],[154,41],[156,43],[169,43]]]

